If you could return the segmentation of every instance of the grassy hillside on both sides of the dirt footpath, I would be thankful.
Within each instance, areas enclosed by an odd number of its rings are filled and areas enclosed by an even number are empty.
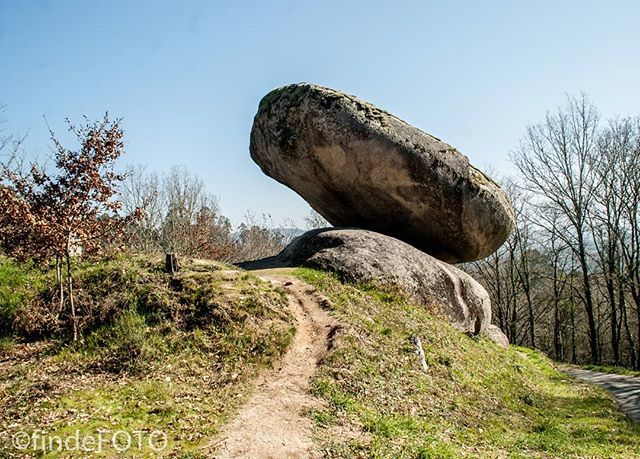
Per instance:
[[[51,273],[0,260],[0,320],[22,330],[0,338],[0,457],[83,457],[18,451],[12,435],[98,429],[159,430],[167,457],[210,457],[220,426],[286,351],[295,324],[283,291],[254,274],[193,262],[171,277],[160,266],[81,266],[78,296],[104,325],[74,345],[55,333],[29,340],[45,333],[35,325]],[[290,273],[324,293],[341,324],[312,381],[322,402],[308,415],[324,457],[640,457],[640,427],[540,354],[469,338],[393,292]],[[91,457],[134,454],[158,456],[143,444]]]

